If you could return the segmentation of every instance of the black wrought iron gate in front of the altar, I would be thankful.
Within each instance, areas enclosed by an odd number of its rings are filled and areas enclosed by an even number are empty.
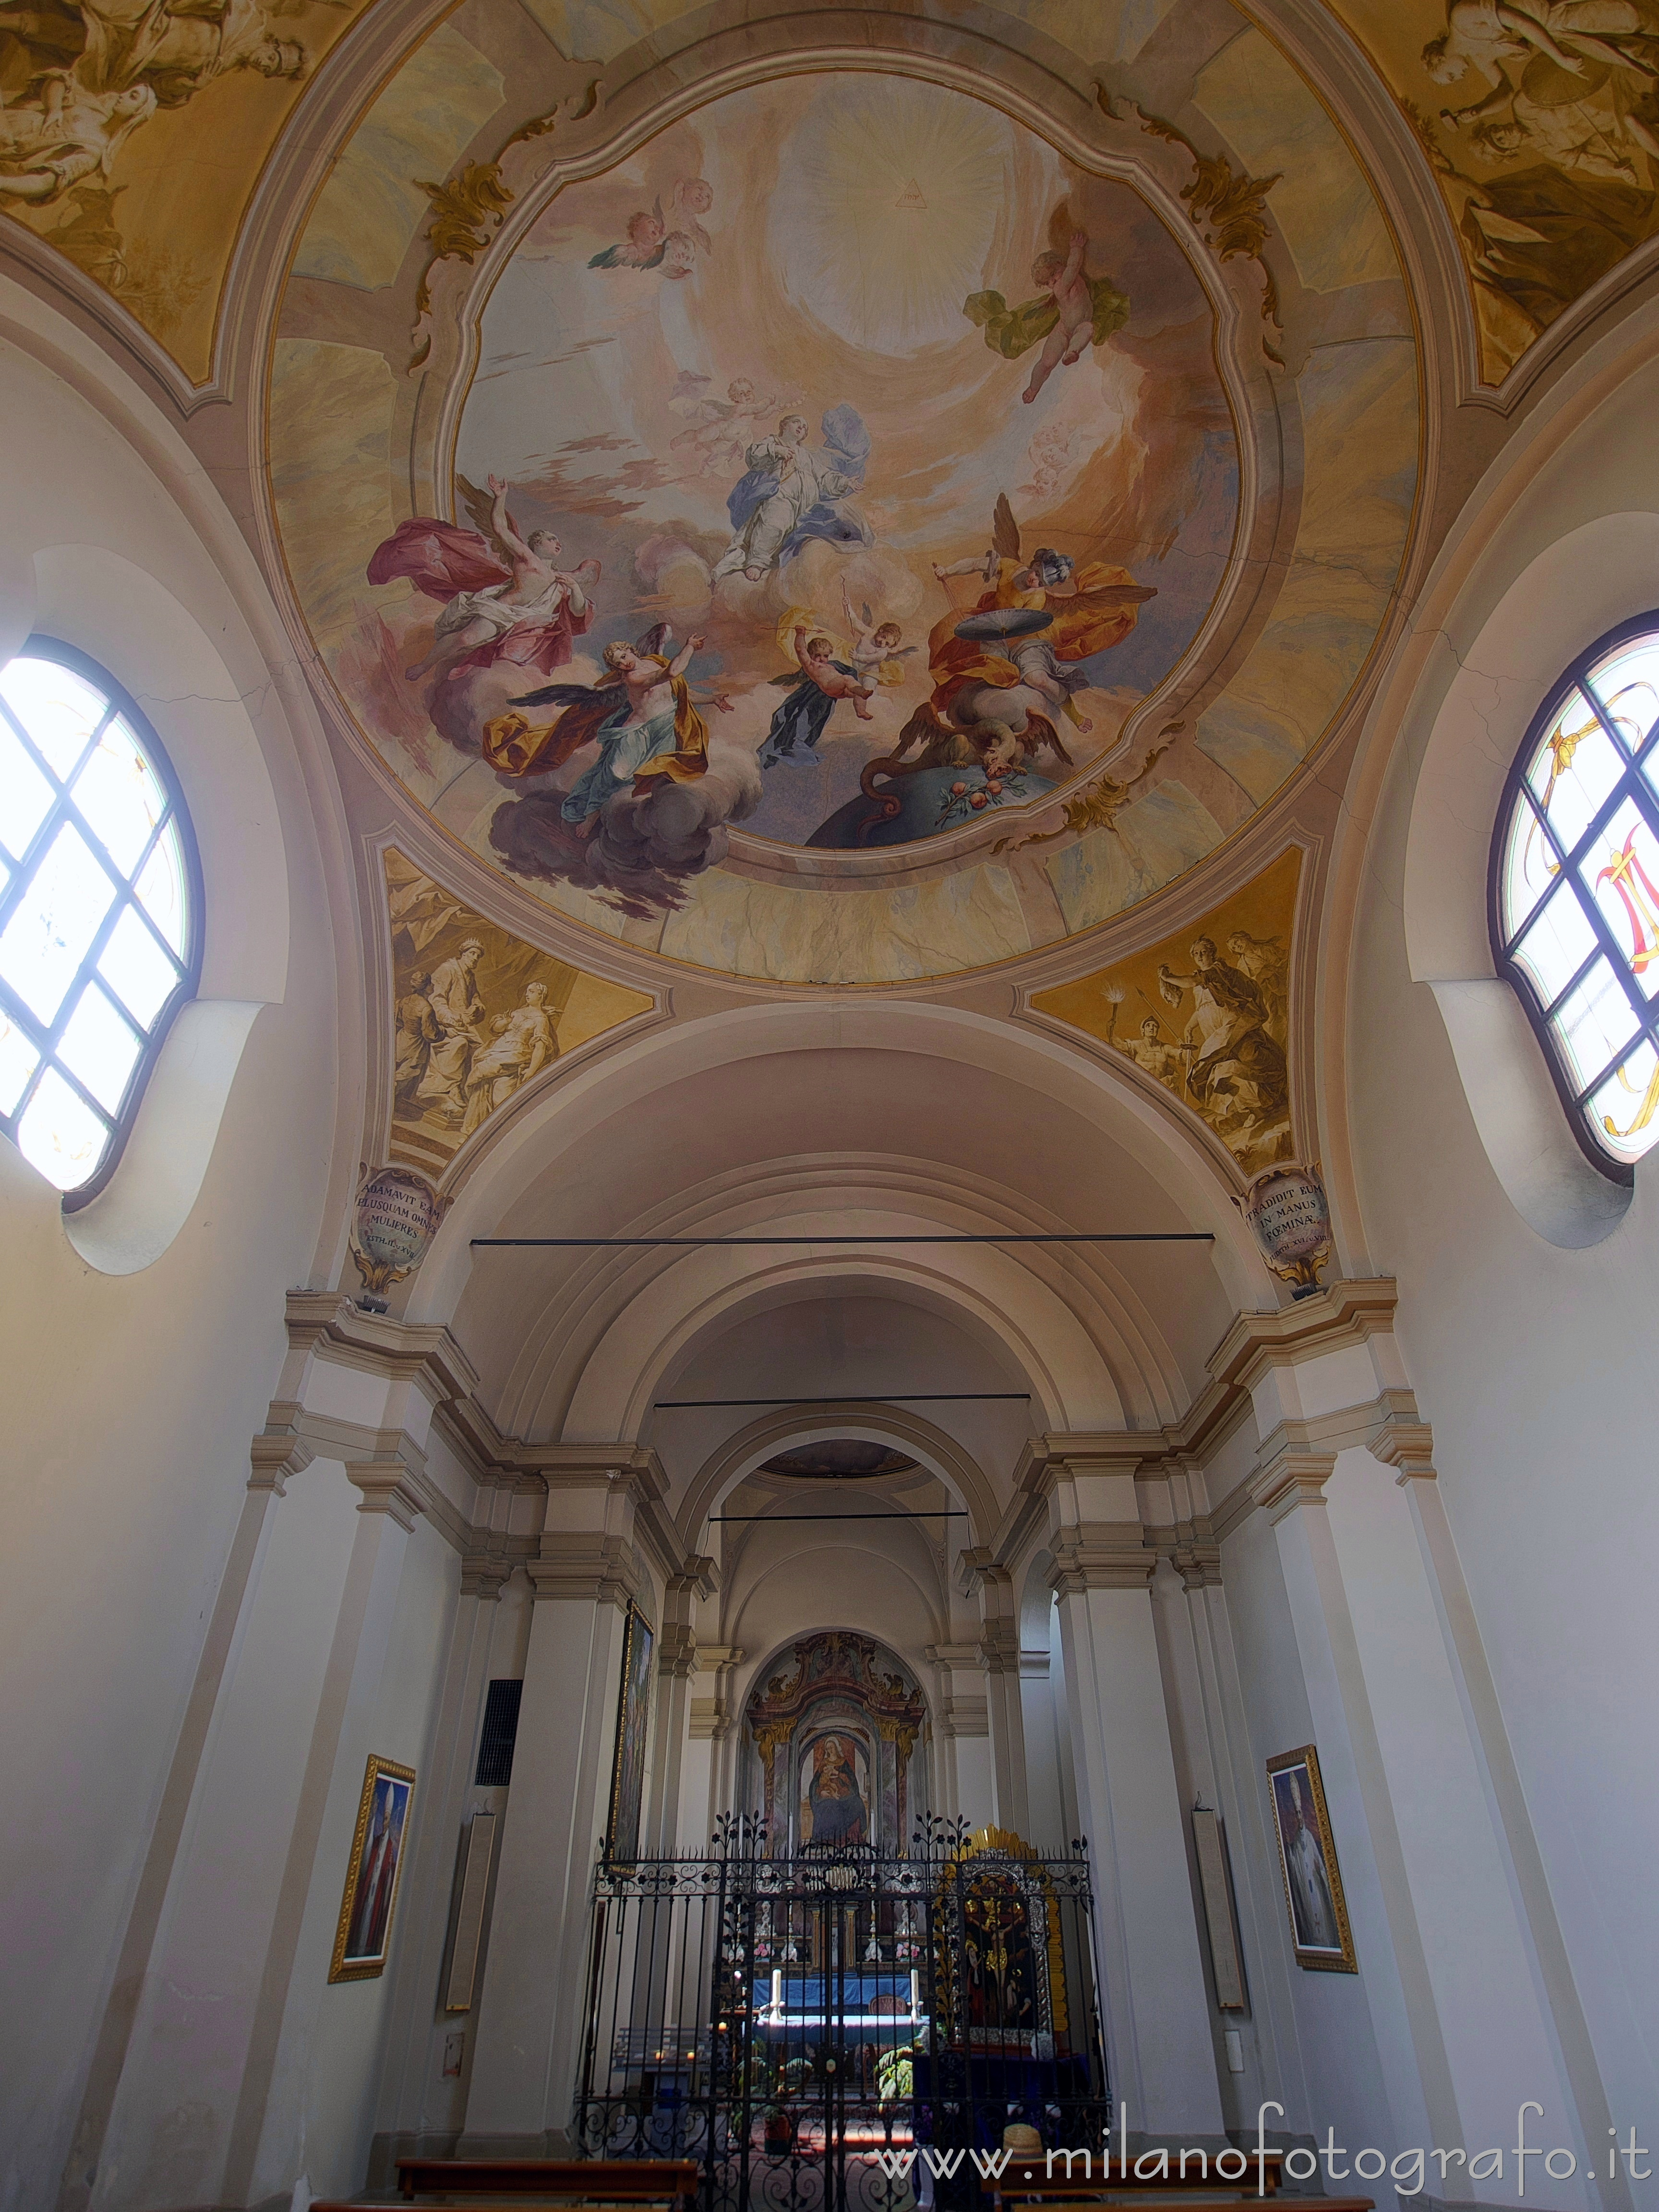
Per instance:
[[[1011,2121],[1099,2148],[1091,1922],[1084,1845],[962,1823],[770,1858],[728,1816],[703,1856],[602,1860],[577,2143],[697,2159],[703,2212],[967,2203]]]

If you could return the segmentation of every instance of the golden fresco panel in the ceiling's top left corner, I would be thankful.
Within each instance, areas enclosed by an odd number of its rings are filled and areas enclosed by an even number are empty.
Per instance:
[[[367,0],[42,0],[0,11],[0,208],[201,385],[237,232]]]

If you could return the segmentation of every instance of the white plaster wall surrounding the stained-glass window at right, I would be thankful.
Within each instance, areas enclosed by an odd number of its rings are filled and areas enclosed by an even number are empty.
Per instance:
[[[1400,1283],[1398,1336],[1433,1422],[1440,1495],[1542,1851],[1540,1880],[1522,1867],[1522,1902],[1544,1933],[1551,1918],[1559,1924],[1568,1980],[1555,1991],[1557,2026],[1571,2037],[1582,2008],[1606,2117],[1621,2130],[1659,2112],[1659,1916],[1648,1909],[1659,1829],[1657,1170],[1637,1170],[1628,1212],[1599,1243],[1573,1250],[1528,1228],[1482,1146],[1433,991],[1411,980],[1402,909],[1438,699],[1504,595],[1553,542],[1588,531],[1573,575],[1537,604],[1535,628],[1551,626],[1562,591],[1577,595],[1582,635],[1562,659],[1659,604],[1659,571],[1601,560],[1593,533],[1604,513],[1659,513],[1657,383],[1644,367],[1537,469],[1447,615],[1447,666],[1425,677],[1405,719],[1369,841],[1347,1022],[1369,1254]],[[1486,672],[1489,710],[1471,741],[1506,763],[1540,677],[1520,659]],[[1451,827],[1464,865],[1484,872],[1491,814]],[[1520,1048],[1533,1051],[1531,1040]],[[1546,2128],[1562,2119],[1548,2081],[1515,2079],[1511,2101],[1522,2097],[1551,2106]],[[1586,2115],[1586,2132],[1606,2146],[1601,2117]]]

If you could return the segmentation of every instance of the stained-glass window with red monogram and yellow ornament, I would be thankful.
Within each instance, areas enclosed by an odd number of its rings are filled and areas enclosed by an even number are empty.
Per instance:
[[[1630,1181],[1659,1144],[1659,613],[1590,646],[1526,732],[1489,905],[1573,1133]]]

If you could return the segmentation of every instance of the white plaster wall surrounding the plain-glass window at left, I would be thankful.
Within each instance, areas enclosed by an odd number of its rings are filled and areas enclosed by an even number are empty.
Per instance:
[[[60,347],[88,396],[24,347],[13,316],[51,325],[38,349]],[[285,980],[252,993],[276,1002],[252,1024],[199,1190],[153,1263],[128,1274],[88,1265],[64,1234],[58,1192],[0,1139],[0,1334],[13,1383],[0,1438],[0,1980],[27,1993],[0,2028],[7,2208],[58,2199],[241,1513],[248,1438],[283,1358],[283,1292],[312,1270],[336,1108],[332,900],[316,827],[330,821],[332,787],[285,719],[270,664],[274,615],[254,606],[246,549],[230,544],[228,518],[199,471],[190,482],[159,418],[144,425],[153,465],[139,460],[142,411],[66,325],[0,290],[0,414],[29,427],[7,440],[0,478],[0,650],[15,650],[35,619],[31,549],[42,544],[62,549],[49,564],[51,619],[60,635],[73,619],[73,641],[117,677],[126,611],[97,595],[108,555],[150,577],[157,604],[175,606],[181,624],[190,608],[195,628],[181,639],[217,655],[230,697],[252,717],[270,792],[261,836],[276,849],[288,909],[285,942],[254,947],[283,956]],[[204,515],[219,540],[204,535]],[[71,608],[64,580],[75,577],[77,546],[100,555],[86,566],[102,582]],[[217,812],[212,779],[188,772],[190,706],[144,703],[164,741],[175,739],[204,854],[217,852],[232,823]],[[246,816],[234,830],[248,834]],[[210,964],[217,949],[210,909]],[[111,1199],[139,1166],[142,1137]]]

